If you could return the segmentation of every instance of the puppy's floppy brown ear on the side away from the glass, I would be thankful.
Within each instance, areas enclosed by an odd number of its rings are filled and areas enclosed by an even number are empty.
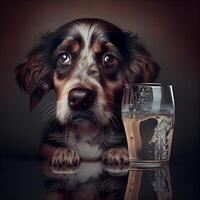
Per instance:
[[[27,56],[27,61],[16,67],[16,79],[22,90],[30,94],[30,110],[53,87],[53,69],[48,63],[48,42],[44,37]]]

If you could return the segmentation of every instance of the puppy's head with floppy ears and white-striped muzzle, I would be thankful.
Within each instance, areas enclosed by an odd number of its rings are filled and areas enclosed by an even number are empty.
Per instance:
[[[16,72],[31,108],[53,88],[60,123],[103,126],[123,84],[152,81],[158,68],[136,36],[104,20],[78,19],[43,35]]]

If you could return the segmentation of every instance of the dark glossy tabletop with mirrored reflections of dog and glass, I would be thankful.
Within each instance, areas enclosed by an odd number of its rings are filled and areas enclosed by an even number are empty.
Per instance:
[[[37,160],[2,160],[0,199],[196,199],[194,173],[182,164],[137,170],[82,162],[59,170]]]

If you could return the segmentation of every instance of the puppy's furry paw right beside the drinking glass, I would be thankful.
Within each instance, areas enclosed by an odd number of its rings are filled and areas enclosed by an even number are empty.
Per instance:
[[[128,164],[128,150],[126,148],[111,148],[102,155],[102,161],[107,165]]]

